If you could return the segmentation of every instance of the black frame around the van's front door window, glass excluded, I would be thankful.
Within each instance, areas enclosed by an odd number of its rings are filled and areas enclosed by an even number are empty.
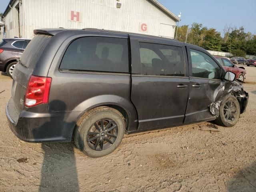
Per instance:
[[[207,80],[222,80],[223,79],[223,76],[225,74],[224,72],[224,68],[220,65],[220,63],[211,55],[209,54],[209,52],[207,52],[206,50],[203,50],[203,49],[199,49],[199,48],[196,48],[196,47],[193,47],[193,46],[186,46],[187,48],[187,55],[188,55],[188,63],[189,63],[189,77],[191,78],[200,78],[200,79],[207,79]],[[201,77],[194,77],[192,75],[192,58],[191,58],[191,53],[190,53],[190,50],[196,50],[196,51],[199,51],[199,52],[202,52],[206,55],[208,55],[210,58],[212,58],[212,60],[214,60],[214,62],[219,66],[220,68],[220,79],[209,79],[209,78],[201,78]]]

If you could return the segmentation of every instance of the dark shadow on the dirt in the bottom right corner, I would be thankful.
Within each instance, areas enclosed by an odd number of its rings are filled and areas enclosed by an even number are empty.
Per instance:
[[[228,182],[229,192],[255,192],[256,191],[256,162],[243,168]]]

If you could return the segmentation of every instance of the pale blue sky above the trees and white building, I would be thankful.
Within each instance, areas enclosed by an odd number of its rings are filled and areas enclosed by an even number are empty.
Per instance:
[[[181,25],[202,23],[223,33],[227,24],[244,26],[246,32],[256,34],[256,0],[158,0],[171,12],[181,12]],[[0,0],[0,12],[4,12],[10,0]]]

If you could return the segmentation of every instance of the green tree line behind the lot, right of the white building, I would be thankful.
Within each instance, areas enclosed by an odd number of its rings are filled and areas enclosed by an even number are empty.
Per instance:
[[[233,56],[245,57],[256,55],[256,35],[244,32],[244,27],[239,28],[226,25],[223,29],[224,37],[214,28],[207,28],[199,23],[193,23],[188,29],[187,25],[178,27],[177,39],[181,42],[200,46],[206,50],[229,52]],[[176,37],[176,31],[175,31]]]

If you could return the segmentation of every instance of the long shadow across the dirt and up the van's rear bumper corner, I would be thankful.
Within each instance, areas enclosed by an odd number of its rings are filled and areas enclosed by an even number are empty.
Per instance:
[[[66,104],[60,100],[50,102],[60,112],[53,112],[38,129],[33,130],[34,138],[45,139],[60,135],[59,127],[71,127],[72,122],[65,122]],[[44,160],[42,162],[40,192],[79,191],[74,144],[42,143]]]

